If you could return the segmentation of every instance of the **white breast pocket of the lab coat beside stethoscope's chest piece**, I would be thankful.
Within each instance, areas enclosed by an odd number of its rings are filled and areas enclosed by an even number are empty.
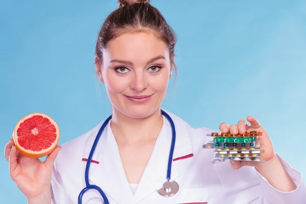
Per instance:
[[[190,188],[183,189],[175,203],[177,204],[201,204],[207,203],[208,190],[207,188]]]

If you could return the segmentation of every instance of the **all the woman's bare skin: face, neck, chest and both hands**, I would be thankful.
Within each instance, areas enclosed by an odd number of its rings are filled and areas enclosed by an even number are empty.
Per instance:
[[[95,64],[113,107],[111,129],[118,144],[126,178],[131,184],[138,183],[162,128],[160,108],[173,66],[166,45],[152,33],[123,34],[109,43],[108,48],[103,51],[103,56],[103,63],[98,66],[98,59],[95,58]],[[159,59],[156,58],[158,56]],[[115,71],[118,67],[121,67],[118,71],[124,74]],[[134,103],[126,97],[135,95],[151,97],[142,104]],[[240,120],[238,124],[230,126],[221,123],[219,127],[222,132],[232,134],[243,134],[246,131],[263,132],[261,143],[265,149],[262,155],[265,162],[243,161],[231,163],[231,166],[234,169],[254,166],[277,190],[289,192],[296,189],[276,157],[272,142],[261,124],[250,116],[247,121],[250,125],[246,120]],[[13,140],[6,145],[5,157],[9,161],[10,175],[17,187],[27,196],[28,203],[51,203],[51,173],[60,148],[58,146],[48,155],[45,162],[40,162],[38,159],[20,155],[13,145]]]

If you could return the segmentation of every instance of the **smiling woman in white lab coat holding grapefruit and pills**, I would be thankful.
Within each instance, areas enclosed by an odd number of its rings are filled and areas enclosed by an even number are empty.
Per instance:
[[[247,117],[250,125],[240,120],[219,127],[231,134],[262,132],[264,162],[210,164],[214,152],[203,150],[202,144],[214,131],[193,129],[168,113],[176,131],[170,181],[180,186],[173,196],[158,193],[166,181],[172,138],[161,104],[175,67],[175,43],[173,31],[148,1],[121,0],[104,22],[95,66],[113,114],[89,159],[90,184],[99,186],[109,203],[304,203],[300,173],[275,154],[269,136],[253,117]],[[86,186],[86,161],[103,123],[62,149],[57,147],[45,162],[19,155],[12,140],[6,145],[10,175],[28,203],[78,203]],[[82,200],[99,203],[100,198],[90,189]]]

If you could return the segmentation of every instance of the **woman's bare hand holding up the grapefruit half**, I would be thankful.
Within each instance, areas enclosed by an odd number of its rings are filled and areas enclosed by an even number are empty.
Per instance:
[[[27,196],[28,201],[42,199],[51,202],[51,174],[53,163],[60,149],[61,147],[57,146],[45,161],[41,162],[39,159],[21,155],[13,139],[6,144],[4,154],[9,162],[10,175],[17,187]]]

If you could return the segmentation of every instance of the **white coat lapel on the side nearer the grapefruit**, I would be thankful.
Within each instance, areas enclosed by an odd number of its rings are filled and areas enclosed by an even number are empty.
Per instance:
[[[95,136],[89,138],[85,151],[88,153],[84,153],[84,157],[89,155]],[[135,203],[126,180],[116,140],[111,132],[110,122],[100,137],[93,160],[89,173],[90,184],[100,187],[109,199],[117,203]]]

